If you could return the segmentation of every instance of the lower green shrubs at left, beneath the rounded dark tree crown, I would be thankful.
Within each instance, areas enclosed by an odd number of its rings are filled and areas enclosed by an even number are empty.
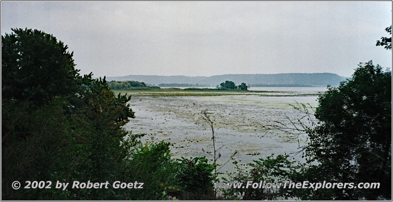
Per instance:
[[[127,156],[121,145],[129,132],[121,128],[135,117],[126,104],[130,97],[114,96],[105,80],[94,80],[78,105],[56,98],[30,108],[26,100],[2,102],[2,183],[27,180],[114,181]],[[3,186],[3,199],[111,199],[111,190],[13,190]]]

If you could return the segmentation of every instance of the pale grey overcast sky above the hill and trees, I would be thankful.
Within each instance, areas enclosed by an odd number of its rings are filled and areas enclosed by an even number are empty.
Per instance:
[[[1,35],[51,33],[98,76],[336,73],[392,67],[392,1],[1,1]]]

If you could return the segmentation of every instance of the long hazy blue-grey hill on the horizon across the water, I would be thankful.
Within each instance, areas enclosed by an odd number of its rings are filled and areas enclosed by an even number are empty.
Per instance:
[[[338,86],[344,77],[332,73],[284,73],[284,74],[225,74],[210,77],[189,76],[156,76],[129,75],[122,77],[107,77],[107,81],[139,81],[150,85],[159,84],[199,84],[216,86],[226,80],[236,85],[246,83],[250,85],[294,85],[294,86]]]

